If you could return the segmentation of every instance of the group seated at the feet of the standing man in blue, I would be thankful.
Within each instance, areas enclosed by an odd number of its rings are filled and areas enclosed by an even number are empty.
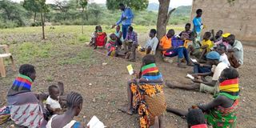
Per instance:
[[[103,46],[106,48],[108,56],[123,57],[134,62],[136,60],[136,49],[138,47],[138,34],[134,32],[132,26],[129,26],[126,38],[123,39],[122,37],[120,26],[116,26],[116,32],[110,34],[109,40],[107,40],[106,33],[102,32],[102,27],[96,26],[90,40],[90,46],[94,46],[94,49],[98,46]]]

